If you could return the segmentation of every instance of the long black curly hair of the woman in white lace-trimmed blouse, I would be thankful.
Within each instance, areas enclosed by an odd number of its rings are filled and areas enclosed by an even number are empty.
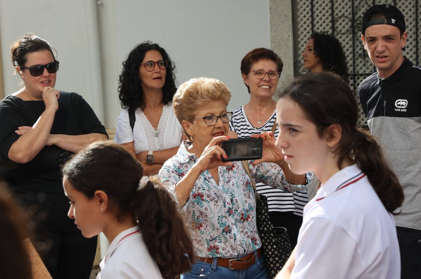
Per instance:
[[[127,59],[123,62],[123,71],[119,77],[118,92],[121,101],[121,107],[123,109],[128,108],[129,110],[135,110],[138,107],[144,108],[144,97],[143,90],[139,80],[139,67],[145,58],[145,54],[149,50],[157,50],[161,53],[162,58],[168,61],[167,74],[165,75],[165,84],[162,88],[164,104],[171,104],[173,96],[177,91],[176,88],[176,75],[175,75],[175,64],[171,61],[170,56],[161,48],[159,45],[152,43],[151,41],[145,41],[129,53]]]

